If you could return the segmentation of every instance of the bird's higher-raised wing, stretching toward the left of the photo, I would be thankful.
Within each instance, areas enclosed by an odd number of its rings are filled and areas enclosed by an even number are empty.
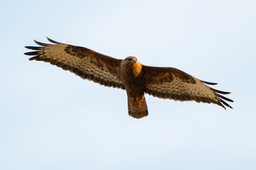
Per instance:
[[[50,38],[48,40],[54,44],[45,44],[35,40],[36,44],[42,47],[27,46],[26,48],[36,51],[26,52],[24,55],[34,55],[29,60],[50,62],[50,64],[75,73],[82,79],[92,80],[104,86],[125,89],[119,73],[122,60],[102,55],[86,47],[63,44],[50,40]]]

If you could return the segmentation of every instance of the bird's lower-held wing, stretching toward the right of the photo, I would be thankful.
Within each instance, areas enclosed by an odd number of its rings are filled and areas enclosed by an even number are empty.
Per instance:
[[[146,94],[174,101],[215,103],[223,108],[225,106],[232,108],[225,101],[233,101],[220,95],[230,94],[230,92],[218,91],[206,85],[215,85],[215,83],[201,81],[186,72],[171,67],[143,66],[142,69],[145,76]]]

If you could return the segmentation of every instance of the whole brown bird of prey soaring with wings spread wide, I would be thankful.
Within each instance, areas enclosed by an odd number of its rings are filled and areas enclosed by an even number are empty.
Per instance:
[[[136,57],[130,56],[119,60],[86,47],[68,45],[50,38],[48,40],[53,44],[34,40],[41,47],[26,46],[36,51],[26,52],[24,55],[32,55],[29,60],[50,62],[75,73],[82,79],[125,90],[128,97],[128,112],[133,118],[148,115],[144,94],[174,101],[214,103],[223,108],[232,108],[226,101],[233,101],[220,95],[230,92],[213,89],[206,84],[215,83],[201,81],[179,69],[150,67],[139,63]]]

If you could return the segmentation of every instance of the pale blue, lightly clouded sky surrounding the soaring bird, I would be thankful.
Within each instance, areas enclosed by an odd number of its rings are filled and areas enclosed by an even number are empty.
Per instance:
[[[0,169],[256,169],[256,1],[1,1]],[[125,91],[29,62],[33,40],[176,67],[234,109]]]

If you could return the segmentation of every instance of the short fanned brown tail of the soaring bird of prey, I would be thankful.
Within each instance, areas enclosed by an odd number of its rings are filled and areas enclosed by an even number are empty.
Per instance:
[[[128,96],[128,111],[129,115],[133,118],[144,118],[149,115],[145,97],[134,99]]]

